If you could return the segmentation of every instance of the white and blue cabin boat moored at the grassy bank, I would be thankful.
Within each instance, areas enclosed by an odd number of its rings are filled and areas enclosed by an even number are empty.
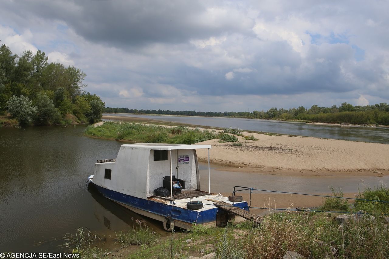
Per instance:
[[[130,210],[174,226],[191,229],[193,224],[223,226],[242,217],[215,206],[225,202],[248,211],[246,201],[232,202],[228,197],[200,189],[196,149],[210,145],[124,144],[116,159],[98,160],[88,180],[105,197]]]

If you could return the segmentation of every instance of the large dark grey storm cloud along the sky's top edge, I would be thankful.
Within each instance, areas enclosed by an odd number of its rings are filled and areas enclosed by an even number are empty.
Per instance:
[[[251,34],[254,25],[253,20],[227,12],[210,17],[198,1],[36,0],[10,5],[16,14],[61,20],[87,40],[119,47],[186,42],[232,32]]]

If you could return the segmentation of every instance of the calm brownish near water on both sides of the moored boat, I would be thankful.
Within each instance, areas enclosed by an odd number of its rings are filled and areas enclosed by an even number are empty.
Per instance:
[[[84,126],[0,128],[0,251],[48,252],[65,250],[63,234],[77,227],[107,237],[143,219],[86,186],[97,159],[116,158],[123,142],[84,137]],[[212,165],[211,191],[231,193],[234,185],[306,193],[329,193],[328,185],[357,192],[359,178],[279,177],[223,172]],[[208,189],[206,165],[201,164],[202,189]],[[352,182],[350,182],[352,180]],[[372,185],[387,177],[363,177]],[[131,219],[133,218],[133,219]],[[163,232],[160,222],[149,226]]]

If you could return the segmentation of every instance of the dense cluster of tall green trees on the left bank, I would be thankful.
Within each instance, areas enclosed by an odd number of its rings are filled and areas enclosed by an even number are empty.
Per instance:
[[[18,56],[0,46],[0,113],[7,111],[19,124],[51,125],[100,120],[104,103],[83,88],[85,73],[74,66],[48,63],[40,50]],[[74,116],[75,117],[74,117]]]

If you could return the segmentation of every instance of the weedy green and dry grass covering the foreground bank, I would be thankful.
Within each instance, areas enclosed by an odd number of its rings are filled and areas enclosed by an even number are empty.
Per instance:
[[[365,218],[358,222],[346,221],[340,226],[336,215],[286,211],[265,216],[260,225],[252,222],[228,224],[226,228],[194,225],[192,231],[172,231],[162,239],[151,230],[143,233],[147,227],[142,223],[130,231],[131,237],[118,233],[117,241],[121,245],[142,244],[123,254],[123,258],[184,259],[212,252],[219,259],[282,258],[288,250],[306,258],[389,258],[389,229],[383,222]],[[82,251],[83,258],[88,258],[86,255],[90,256],[92,251],[100,258],[102,251],[93,246],[95,239],[94,235],[85,233],[72,236],[68,238],[72,240],[68,247],[70,251]],[[140,239],[145,241],[134,241]],[[186,242],[188,239],[191,241]]]

